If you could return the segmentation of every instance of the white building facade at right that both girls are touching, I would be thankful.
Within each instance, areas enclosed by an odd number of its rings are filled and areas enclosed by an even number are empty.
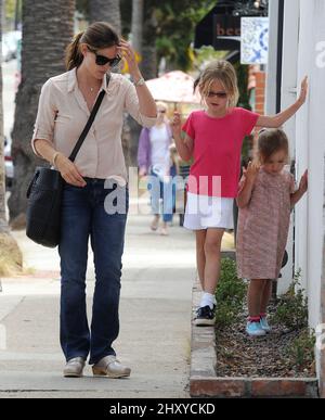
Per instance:
[[[276,112],[294,103],[304,75],[309,77],[306,104],[284,127],[290,139],[296,179],[309,170],[309,191],[292,212],[287,245],[289,264],[283,291],[301,269],[302,288],[309,297],[311,328],[325,322],[324,296],[324,152],[325,152],[325,1],[270,1],[270,56],[266,110]],[[281,55],[280,55],[281,54]],[[274,84],[277,89],[274,91]],[[320,389],[325,396],[325,357],[316,349]]]

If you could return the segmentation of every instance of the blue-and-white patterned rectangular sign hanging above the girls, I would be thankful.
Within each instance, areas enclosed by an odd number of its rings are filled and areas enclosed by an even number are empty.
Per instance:
[[[269,17],[242,17],[242,64],[268,64]]]

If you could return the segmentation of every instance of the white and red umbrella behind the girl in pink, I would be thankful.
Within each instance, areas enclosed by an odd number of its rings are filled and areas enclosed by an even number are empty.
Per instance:
[[[194,78],[186,73],[166,73],[161,77],[147,80],[146,85],[156,101],[200,103],[199,94],[193,94]]]

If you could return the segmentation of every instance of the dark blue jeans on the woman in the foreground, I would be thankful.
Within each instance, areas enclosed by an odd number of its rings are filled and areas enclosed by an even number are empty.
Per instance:
[[[65,184],[62,205],[61,256],[61,346],[66,360],[74,357],[93,365],[115,355],[112,347],[119,332],[121,257],[129,206],[127,188],[104,188],[104,180],[87,179],[87,187]],[[107,195],[118,195],[125,214],[107,214]],[[116,200],[115,200],[116,202]],[[86,309],[88,241],[94,254],[95,289],[92,322]]]

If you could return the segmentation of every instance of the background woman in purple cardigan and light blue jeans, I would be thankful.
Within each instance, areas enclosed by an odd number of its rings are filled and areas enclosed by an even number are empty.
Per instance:
[[[177,167],[172,161],[171,141],[172,133],[168,118],[166,117],[167,105],[157,102],[158,119],[154,127],[143,128],[139,139],[138,164],[139,176],[151,175],[154,177],[148,182],[151,191],[152,211],[154,219],[151,229],[158,229],[160,218],[159,201],[162,201],[162,226],[160,234],[167,236],[167,224],[172,220],[174,205],[174,186],[166,176],[176,176]],[[157,180],[157,182],[155,182]]]

